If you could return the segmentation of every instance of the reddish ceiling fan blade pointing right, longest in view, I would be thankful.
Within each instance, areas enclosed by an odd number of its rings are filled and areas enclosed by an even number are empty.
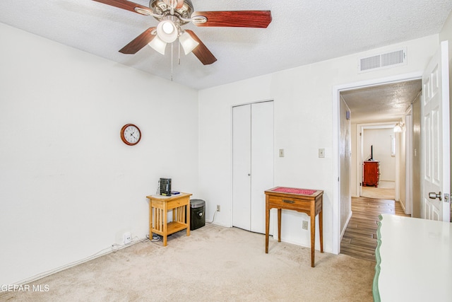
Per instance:
[[[239,28],[266,28],[271,22],[270,11],[195,11],[191,18],[203,16],[205,23],[196,23],[196,26],[239,27]]]

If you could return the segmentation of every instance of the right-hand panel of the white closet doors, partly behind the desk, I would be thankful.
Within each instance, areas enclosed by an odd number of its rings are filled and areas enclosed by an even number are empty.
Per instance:
[[[266,194],[273,187],[273,102],[251,105],[251,231],[266,232]]]

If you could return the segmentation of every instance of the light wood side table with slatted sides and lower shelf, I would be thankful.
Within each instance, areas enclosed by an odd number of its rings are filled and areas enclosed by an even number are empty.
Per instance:
[[[163,246],[167,236],[186,229],[190,236],[190,196],[180,193],[173,196],[151,195],[149,199],[149,238],[153,233],[163,236]],[[167,211],[172,210],[172,221],[167,222]]]

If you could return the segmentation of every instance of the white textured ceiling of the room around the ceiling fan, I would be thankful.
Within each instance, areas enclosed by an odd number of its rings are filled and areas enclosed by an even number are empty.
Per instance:
[[[148,6],[148,1],[136,0]],[[218,59],[174,59],[173,81],[196,89],[248,79],[439,33],[451,0],[192,0],[195,11],[270,10],[268,28],[194,30]],[[1,0],[0,22],[171,79],[171,57],[118,52],[157,21],[91,0]]]

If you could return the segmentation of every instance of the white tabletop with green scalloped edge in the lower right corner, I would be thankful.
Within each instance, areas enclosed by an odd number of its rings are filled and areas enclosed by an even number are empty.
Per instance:
[[[374,301],[452,301],[452,223],[381,214]]]

